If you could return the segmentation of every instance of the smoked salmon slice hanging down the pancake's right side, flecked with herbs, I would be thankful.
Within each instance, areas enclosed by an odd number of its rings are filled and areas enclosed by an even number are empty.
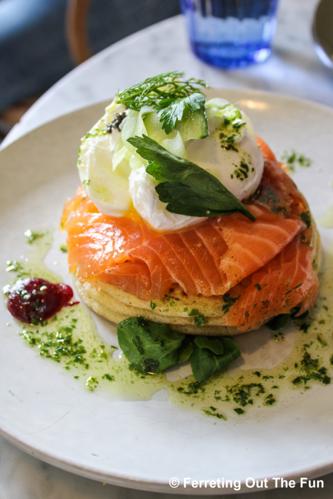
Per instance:
[[[230,291],[226,324],[240,332],[256,329],[271,317],[300,303],[299,314],[316,303],[319,280],[313,270],[313,248],[296,236],[275,258]]]

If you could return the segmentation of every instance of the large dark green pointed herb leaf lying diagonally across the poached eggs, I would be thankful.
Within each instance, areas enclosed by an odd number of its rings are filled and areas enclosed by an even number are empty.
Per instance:
[[[155,189],[160,201],[167,203],[169,212],[192,217],[241,213],[256,220],[241,201],[203,168],[170,153],[145,135],[127,140],[150,162],[147,173],[162,181]]]

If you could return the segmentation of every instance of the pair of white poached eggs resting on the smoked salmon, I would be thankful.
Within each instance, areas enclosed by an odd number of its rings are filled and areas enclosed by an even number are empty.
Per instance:
[[[206,112],[209,135],[183,142],[179,132],[165,134],[154,116],[155,110],[128,111],[113,101],[82,139],[79,150],[81,182],[97,209],[119,217],[133,206],[160,231],[178,230],[204,220],[166,210],[166,203],[159,200],[155,190],[158,182],[146,172],[147,161],[126,140],[143,134],[207,170],[240,201],[254,194],[262,178],[264,160],[250,119],[221,98],[206,102]],[[122,121],[110,133],[108,126],[120,115]],[[147,126],[146,116],[153,121],[153,129]]]

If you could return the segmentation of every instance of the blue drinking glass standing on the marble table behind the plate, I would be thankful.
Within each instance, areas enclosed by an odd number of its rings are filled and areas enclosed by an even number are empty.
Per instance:
[[[232,69],[270,55],[278,0],[180,0],[180,6],[200,59]]]

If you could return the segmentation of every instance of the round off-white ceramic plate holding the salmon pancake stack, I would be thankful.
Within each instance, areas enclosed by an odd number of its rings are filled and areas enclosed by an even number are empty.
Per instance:
[[[296,149],[314,160],[294,178],[315,218],[323,217],[333,199],[333,110],[259,92],[222,95],[239,102],[277,154]],[[64,200],[79,183],[79,139],[103,107],[61,117],[0,153],[1,268],[23,252],[27,228],[57,226]],[[332,243],[332,232],[321,230],[324,248]],[[2,271],[1,284],[7,278]],[[69,276],[64,278],[68,282]],[[272,477],[310,478],[333,470],[333,386],[318,385],[297,404],[280,405],[264,416],[216,424],[215,418],[180,411],[166,400],[112,401],[90,393],[10,332],[2,304],[0,317],[1,433],[50,464],[95,480],[160,492],[172,492],[171,477],[267,478],[273,486]],[[233,491],[180,487],[175,492]]]

